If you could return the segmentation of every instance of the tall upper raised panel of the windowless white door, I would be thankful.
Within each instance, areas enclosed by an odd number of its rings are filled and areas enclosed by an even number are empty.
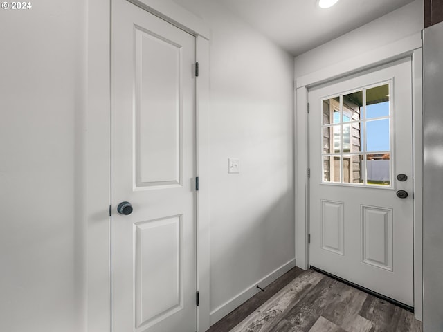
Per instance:
[[[135,185],[183,185],[181,46],[135,26]]]

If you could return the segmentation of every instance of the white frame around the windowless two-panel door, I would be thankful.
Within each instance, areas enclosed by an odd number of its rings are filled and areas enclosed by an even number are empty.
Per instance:
[[[196,37],[197,331],[209,329],[209,28],[171,0],[130,0]],[[87,1],[87,322],[111,331],[111,0]]]

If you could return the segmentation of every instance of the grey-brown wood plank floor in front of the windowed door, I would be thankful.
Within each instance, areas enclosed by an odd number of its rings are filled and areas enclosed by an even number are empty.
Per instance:
[[[208,332],[421,332],[413,313],[315,272],[293,268]]]

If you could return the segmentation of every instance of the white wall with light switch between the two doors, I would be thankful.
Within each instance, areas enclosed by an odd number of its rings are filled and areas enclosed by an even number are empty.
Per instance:
[[[176,2],[211,31],[213,323],[255,294],[257,282],[294,259],[293,57],[217,1]],[[228,157],[239,158],[240,174],[228,174]],[[271,279],[275,275],[260,285]]]

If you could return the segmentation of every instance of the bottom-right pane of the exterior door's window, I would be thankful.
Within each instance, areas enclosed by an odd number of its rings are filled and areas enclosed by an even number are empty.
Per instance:
[[[368,185],[390,185],[390,154],[366,156]]]

